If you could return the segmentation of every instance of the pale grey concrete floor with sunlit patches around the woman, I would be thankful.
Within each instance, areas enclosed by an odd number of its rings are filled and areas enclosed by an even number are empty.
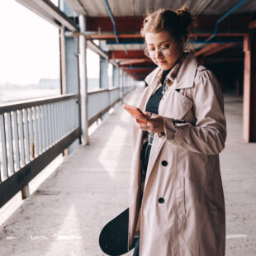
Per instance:
[[[126,97],[135,105],[140,90]],[[242,139],[242,100],[225,97],[226,148],[220,154],[226,255],[256,255],[256,144]],[[116,107],[50,178],[0,226],[1,256],[97,256],[102,226],[126,209],[132,120]],[[132,255],[132,253],[127,254]]]

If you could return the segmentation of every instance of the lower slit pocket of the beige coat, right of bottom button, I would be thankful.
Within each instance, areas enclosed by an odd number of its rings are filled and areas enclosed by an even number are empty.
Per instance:
[[[175,206],[178,214],[186,213],[185,177],[178,177],[175,184]]]

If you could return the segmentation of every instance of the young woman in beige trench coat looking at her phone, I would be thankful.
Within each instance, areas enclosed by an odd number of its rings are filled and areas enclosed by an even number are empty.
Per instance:
[[[129,246],[134,255],[225,255],[225,203],[219,153],[225,116],[219,83],[185,52],[185,9],[145,17],[145,54],[158,65],[135,116]],[[146,121],[142,123],[141,121]]]

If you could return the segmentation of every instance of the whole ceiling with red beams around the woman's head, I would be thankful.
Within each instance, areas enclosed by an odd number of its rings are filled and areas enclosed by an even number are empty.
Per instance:
[[[88,39],[101,40],[102,50],[107,51],[121,67],[135,79],[142,80],[154,69],[154,64],[144,55],[144,41],[140,36],[140,27],[146,12],[154,12],[160,7],[188,7],[192,16],[197,17],[197,31],[192,34],[189,48],[197,52],[198,58],[225,52],[231,49],[238,52],[236,59],[243,54],[243,38],[248,33],[250,21],[254,21],[255,0],[108,0],[111,13],[116,22],[116,34],[107,12],[104,0],[65,0],[77,15],[87,17],[87,31],[96,33]],[[240,4],[239,4],[240,3]],[[206,42],[215,30],[216,22],[234,7],[235,11],[221,21],[215,40]],[[221,35],[222,33],[222,35]],[[217,54],[221,59],[221,55]],[[234,59],[234,55],[232,58]],[[221,61],[228,60],[222,58]],[[144,69],[145,68],[145,69]],[[129,69],[129,70],[128,70]]]

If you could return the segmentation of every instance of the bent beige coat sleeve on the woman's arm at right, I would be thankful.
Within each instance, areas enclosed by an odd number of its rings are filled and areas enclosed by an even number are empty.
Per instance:
[[[198,72],[193,91],[195,126],[164,117],[165,140],[189,151],[219,154],[225,147],[226,128],[223,96],[215,75],[209,70]]]

